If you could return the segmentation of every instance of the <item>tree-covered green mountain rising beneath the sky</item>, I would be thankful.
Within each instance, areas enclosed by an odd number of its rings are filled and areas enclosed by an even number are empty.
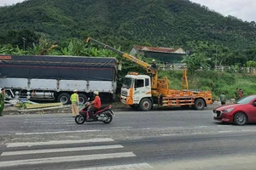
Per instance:
[[[24,30],[57,41],[90,36],[125,49],[187,48],[191,41],[234,50],[256,47],[255,22],[224,17],[189,0],[26,0],[0,8],[1,43]]]

